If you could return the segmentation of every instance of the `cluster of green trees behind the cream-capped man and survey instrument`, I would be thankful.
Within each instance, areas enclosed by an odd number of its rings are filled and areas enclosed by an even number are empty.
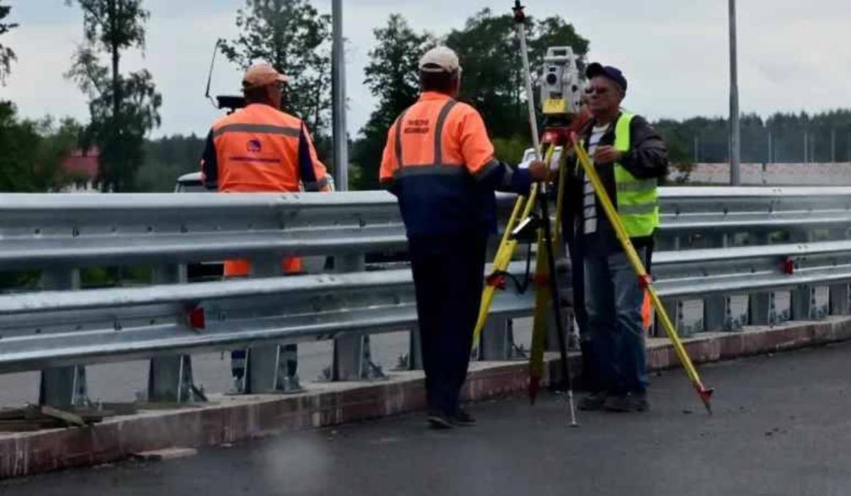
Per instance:
[[[584,56],[588,40],[561,17],[529,20],[529,47],[535,67],[543,64],[547,47],[570,46]],[[374,31],[376,47],[364,84],[378,97],[378,107],[354,143],[352,158],[361,174],[357,189],[378,186],[378,169],[387,130],[399,113],[419,94],[420,56],[436,44],[428,33],[414,32],[401,15],[393,14],[386,26]],[[511,15],[494,15],[484,9],[466,21],[460,30],[449,32],[443,43],[454,49],[463,67],[461,100],[483,114],[500,159],[517,162],[530,142],[526,95],[514,21]]]

